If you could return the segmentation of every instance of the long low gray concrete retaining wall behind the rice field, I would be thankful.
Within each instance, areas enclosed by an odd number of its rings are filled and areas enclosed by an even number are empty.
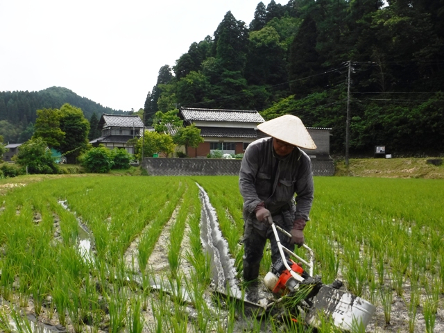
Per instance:
[[[314,176],[333,176],[332,160],[311,160]],[[151,176],[238,176],[241,160],[147,157],[142,167]]]

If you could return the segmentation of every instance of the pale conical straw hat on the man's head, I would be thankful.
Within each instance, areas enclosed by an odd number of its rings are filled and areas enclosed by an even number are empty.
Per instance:
[[[305,128],[302,120],[291,114],[268,120],[264,123],[259,123],[257,129],[262,130],[265,134],[293,144],[305,149],[316,149],[313,139]]]

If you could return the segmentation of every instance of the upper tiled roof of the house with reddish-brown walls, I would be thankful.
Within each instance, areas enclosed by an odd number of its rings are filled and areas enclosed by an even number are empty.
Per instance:
[[[185,121],[240,121],[244,123],[263,123],[265,120],[256,110],[220,110],[180,108]]]

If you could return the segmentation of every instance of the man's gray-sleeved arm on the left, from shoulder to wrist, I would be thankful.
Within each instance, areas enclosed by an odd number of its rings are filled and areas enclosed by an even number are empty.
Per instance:
[[[257,146],[248,146],[244,153],[239,172],[239,190],[244,198],[244,210],[253,212],[262,200],[257,196],[255,180],[259,167],[259,151]]]

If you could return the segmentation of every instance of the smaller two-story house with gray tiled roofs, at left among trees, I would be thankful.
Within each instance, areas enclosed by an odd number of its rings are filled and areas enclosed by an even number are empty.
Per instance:
[[[144,123],[137,115],[104,113],[99,120],[98,127],[102,131],[102,135],[89,142],[92,146],[103,144],[110,149],[125,148],[128,153],[133,154],[134,147],[127,142],[129,139],[142,136]]]

